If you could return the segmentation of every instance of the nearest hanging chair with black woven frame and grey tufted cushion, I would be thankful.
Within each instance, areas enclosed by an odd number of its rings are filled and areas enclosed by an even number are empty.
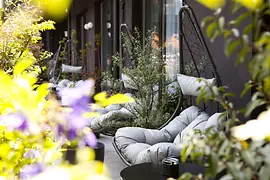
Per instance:
[[[215,80],[215,85],[221,86],[220,76],[198,25],[195,13],[185,3],[180,9],[179,19],[180,81],[184,78],[197,77],[208,80],[214,78],[211,80]],[[192,92],[187,92],[180,84],[181,93],[178,105],[171,118],[160,128],[126,127],[118,129],[112,143],[125,164],[130,166],[149,161],[160,162],[162,158],[168,156],[179,156],[180,149],[176,144],[181,140],[181,134],[183,135],[185,129],[191,125],[190,128],[198,127],[200,129],[210,125],[218,126],[217,115],[220,116],[220,113],[216,112],[221,111],[219,103],[208,101],[207,104],[202,102],[195,107],[198,94],[195,95],[197,88],[194,87],[194,84],[189,84],[187,88]],[[188,107],[185,104],[188,104]],[[194,124],[195,121],[197,121],[196,125]]]

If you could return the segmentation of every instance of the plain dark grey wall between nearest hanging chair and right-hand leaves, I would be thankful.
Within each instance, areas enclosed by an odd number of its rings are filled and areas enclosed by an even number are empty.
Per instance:
[[[193,8],[199,22],[201,22],[204,17],[212,14],[212,11],[203,7],[196,1],[190,0],[187,3]],[[229,13],[228,7],[224,9],[224,16],[226,17],[226,20],[232,18],[232,16]],[[203,33],[204,37],[206,37],[205,29],[203,29]],[[206,40],[209,45],[209,49],[213,56],[213,59],[217,65],[218,72],[221,76],[223,85],[228,86],[228,90],[236,94],[236,96],[230,98],[230,100],[234,103],[235,108],[245,107],[250,98],[250,94],[245,96],[243,99],[240,99],[239,95],[244,89],[244,83],[249,80],[249,73],[247,69],[243,65],[239,66],[234,65],[234,62],[236,60],[235,55],[233,55],[229,59],[225,56],[223,52],[224,49],[223,39],[217,39],[214,43],[210,43],[207,38]]]

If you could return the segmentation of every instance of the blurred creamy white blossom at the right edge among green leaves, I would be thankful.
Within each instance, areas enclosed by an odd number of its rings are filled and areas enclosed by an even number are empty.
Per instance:
[[[246,124],[232,128],[232,135],[245,141],[251,138],[254,141],[260,141],[270,135],[270,109],[262,112],[257,120],[250,120]]]

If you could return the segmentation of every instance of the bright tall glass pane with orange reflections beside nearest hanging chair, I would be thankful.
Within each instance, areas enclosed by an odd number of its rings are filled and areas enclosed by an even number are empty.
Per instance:
[[[179,10],[182,2],[179,0],[166,0],[165,11],[165,61],[166,70],[171,80],[176,78],[179,72]]]

